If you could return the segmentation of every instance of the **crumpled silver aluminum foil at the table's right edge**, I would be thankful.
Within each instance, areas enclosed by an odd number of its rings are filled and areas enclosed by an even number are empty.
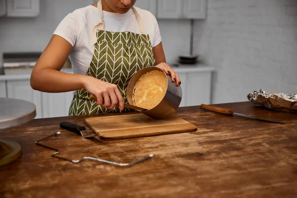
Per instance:
[[[264,106],[269,109],[297,112],[297,94],[267,94],[260,89],[259,92],[252,92],[247,95],[247,99],[254,104]]]

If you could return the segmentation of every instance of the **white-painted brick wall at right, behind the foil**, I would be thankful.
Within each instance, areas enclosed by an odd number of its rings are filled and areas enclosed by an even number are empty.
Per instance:
[[[297,0],[208,0],[194,52],[217,72],[212,103],[247,101],[260,88],[297,94]]]

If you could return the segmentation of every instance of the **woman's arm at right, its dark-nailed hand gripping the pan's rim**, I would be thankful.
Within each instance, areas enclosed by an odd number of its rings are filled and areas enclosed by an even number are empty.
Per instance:
[[[176,82],[177,86],[180,86],[182,83],[178,77],[178,75],[174,72],[174,70],[166,63],[165,53],[163,50],[162,42],[157,46],[152,48],[153,56],[156,60],[156,65],[168,75],[171,76],[172,82]]]

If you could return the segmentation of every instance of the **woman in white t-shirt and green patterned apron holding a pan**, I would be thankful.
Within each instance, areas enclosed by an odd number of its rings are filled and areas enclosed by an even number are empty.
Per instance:
[[[180,86],[166,63],[155,17],[135,2],[99,0],[68,14],[37,61],[31,87],[49,93],[76,90],[69,115],[80,115],[122,112],[129,80],[147,66],[161,68]],[[74,74],[60,71],[68,56]]]

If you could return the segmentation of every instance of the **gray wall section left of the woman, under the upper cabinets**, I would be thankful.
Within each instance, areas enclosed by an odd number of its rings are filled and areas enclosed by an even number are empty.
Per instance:
[[[92,0],[41,0],[36,18],[0,17],[0,54],[7,51],[42,51],[63,17]],[[2,57],[0,60],[2,63]]]

